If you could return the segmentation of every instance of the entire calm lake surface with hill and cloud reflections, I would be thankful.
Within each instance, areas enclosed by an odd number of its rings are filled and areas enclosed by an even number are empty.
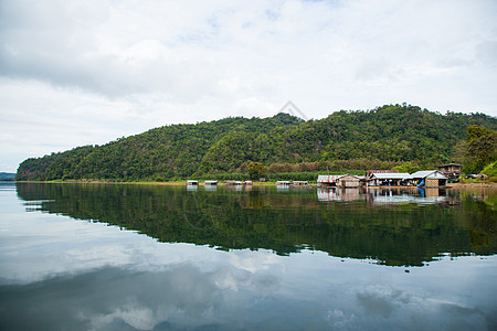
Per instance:
[[[0,184],[0,330],[496,330],[495,191]]]

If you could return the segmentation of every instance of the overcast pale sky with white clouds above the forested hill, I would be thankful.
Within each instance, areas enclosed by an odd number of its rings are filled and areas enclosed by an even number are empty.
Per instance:
[[[497,116],[495,0],[0,0],[0,171],[179,122]]]

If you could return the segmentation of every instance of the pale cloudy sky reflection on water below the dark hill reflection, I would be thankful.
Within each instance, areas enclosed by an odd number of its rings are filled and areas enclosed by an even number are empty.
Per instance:
[[[8,202],[1,330],[497,328],[496,256],[442,256],[408,274],[309,249],[159,243]]]

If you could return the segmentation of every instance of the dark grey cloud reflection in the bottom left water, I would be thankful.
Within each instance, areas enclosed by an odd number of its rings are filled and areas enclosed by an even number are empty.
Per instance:
[[[3,327],[6,330],[151,330],[209,324],[204,314],[222,303],[213,278],[194,266],[180,265],[160,273],[103,268],[31,286],[0,287],[2,297],[7,298],[1,313]],[[30,318],[23,320],[25,311],[30,311]]]

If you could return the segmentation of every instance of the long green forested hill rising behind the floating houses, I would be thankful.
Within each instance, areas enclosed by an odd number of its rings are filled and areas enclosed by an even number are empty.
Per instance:
[[[337,111],[304,121],[287,114],[271,118],[225,118],[171,125],[23,161],[17,180],[156,180],[224,172],[246,172],[251,161],[313,164],[326,170],[348,160],[349,168],[413,161],[422,167],[454,161],[466,128],[497,129],[484,114],[432,113],[389,105],[372,110]]]

